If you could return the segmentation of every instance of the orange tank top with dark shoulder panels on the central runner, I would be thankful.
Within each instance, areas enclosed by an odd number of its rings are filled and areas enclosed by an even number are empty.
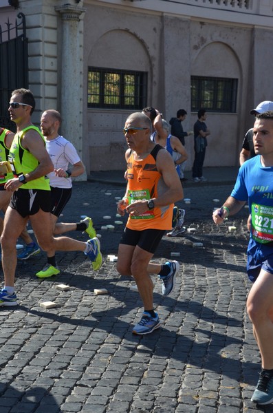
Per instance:
[[[157,198],[168,189],[156,167],[156,156],[160,149],[166,150],[160,145],[155,145],[144,160],[134,160],[133,151],[131,152],[127,162],[129,204],[136,200]],[[166,207],[155,207],[151,211],[148,209],[145,213],[137,216],[129,215],[127,227],[135,231],[143,231],[144,229],[168,230],[172,228],[172,218],[173,204]]]

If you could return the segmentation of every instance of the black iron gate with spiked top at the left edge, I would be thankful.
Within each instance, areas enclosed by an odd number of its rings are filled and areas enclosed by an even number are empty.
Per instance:
[[[28,89],[28,39],[25,34],[25,15],[17,14],[15,24],[0,25],[0,127],[16,131],[10,120],[8,103],[12,90]]]

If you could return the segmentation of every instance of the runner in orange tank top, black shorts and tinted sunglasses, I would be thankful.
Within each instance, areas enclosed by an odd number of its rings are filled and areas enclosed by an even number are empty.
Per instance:
[[[127,118],[124,136],[127,140],[127,191],[118,202],[118,213],[129,214],[126,229],[118,247],[117,269],[121,275],[133,275],[144,306],[142,319],[134,334],[149,334],[160,327],[153,308],[153,282],[149,273],[160,275],[162,293],[173,290],[178,262],[151,264],[165,231],[171,229],[173,202],[183,198],[183,189],[170,153],[150,139],[151,120],[141,113]]]

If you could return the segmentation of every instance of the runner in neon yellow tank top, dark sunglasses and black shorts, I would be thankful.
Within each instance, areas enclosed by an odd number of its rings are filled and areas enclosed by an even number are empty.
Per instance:
[[[50,183],[46,175],[54,167],[45,149],[43,135],[32,124],[34,108],[35,100],[30,90],[16,89],[12,92],[8,111],[11,120],[17,125],[17,133],[9,156],[14,178],[5,184],[12,198],[1,235],[5,284],[0,292],[0,306],[17,305],[14,293],[16,242],[28,219],[44,251],[83,251],[91,260],[94,270],[98,270],[102,264],[100,243],[96,237],[80,242],[69,237],[54,238],[52,235]]]

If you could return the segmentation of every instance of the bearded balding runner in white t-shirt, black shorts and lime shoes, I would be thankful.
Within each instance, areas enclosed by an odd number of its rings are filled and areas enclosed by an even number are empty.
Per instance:
[[[78,153],[69,140],[58,134],[61,126],[61,114],[54,109],[48,109],[41,116],[41,132],[45,137],[47,153],[54,165],[54,171],[47,174],[50,179],[51,189],[51,216],[54,235],[61,235],[68,231],[85,231],[89,237],[96,237],[91,218],[86,217],[77,223],[58,222],[58,217],[65,208],[72,195],[72,179],[82,175],[85,166],[80,160]],[[68,166],[72,165],[72,169]],[[39,246],[33,242],[27,231],[23,232],[24,239],[28,237],[27,245],[23,253],[18,255],[19,260],[27,260],[30,255],[39,253]],[[38,250],[38,251],[37,251]],[[33,251],[33,252],[32,252]],[[60,273],[56,266],[55,251],[47,251],[47,264],[36,273],[39,278],[52,277]]]

